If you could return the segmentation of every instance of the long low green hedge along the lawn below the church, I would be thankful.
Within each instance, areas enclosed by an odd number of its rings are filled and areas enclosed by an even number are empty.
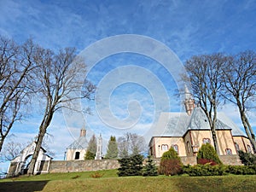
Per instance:
[[[183,173],[189,176],[222,176],[227,174],[235,175],[254,175],[256,174],[256,165],[253,166],[224,166],[216,165],[195,165],[183,166]]]

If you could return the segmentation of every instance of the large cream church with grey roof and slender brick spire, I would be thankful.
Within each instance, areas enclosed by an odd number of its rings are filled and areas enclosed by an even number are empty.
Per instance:
[[[149,154],[160,158],[169,148],[179,156],[194,156],[203,143],[211,143],[212,131],[206,114],[185,88],[186,112],[160,113],[153,136],[148,144]],[[237,154],[238,150],[253,153],[253,147],[243,131],[225,113],[218,112],[216,135],[219,155]]]

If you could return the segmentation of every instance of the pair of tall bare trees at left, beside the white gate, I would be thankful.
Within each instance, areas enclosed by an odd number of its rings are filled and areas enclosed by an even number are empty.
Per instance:
[[[28,171],[33,174],[55,112],[68,107],[74,99],[92,99],[95,85],[86,79],[75,79],[78,73],[85,72],[84,61],[76,55],[75,48],[54,51],[35,44],[32,39],[17,44],[0,37],[0,152],[15,122],[32,115],[30,108],[38,102],[42,120]],[[81,91],[81,96],[71,96],[76,91]]]

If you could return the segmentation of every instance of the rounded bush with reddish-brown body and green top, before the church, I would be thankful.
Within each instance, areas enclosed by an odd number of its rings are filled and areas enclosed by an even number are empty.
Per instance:
[[[166,151],[160,160],[160,174],[166,176],[177,175],[182,173],[182,162],[174,148],[170,148]]]

